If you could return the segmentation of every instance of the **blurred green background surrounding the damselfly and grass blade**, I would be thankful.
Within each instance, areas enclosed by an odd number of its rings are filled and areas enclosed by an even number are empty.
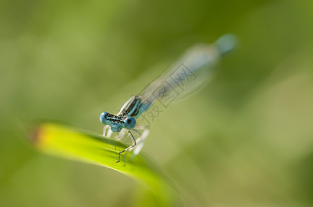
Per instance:
[[[0,206],[149,204],[125,175],[36,152],[23,123],[101,133],[100,112],[226,32],[240,48],[154,121],[143,153],[184,206],[312,206],[312,19],[310,0],[1,1]]]

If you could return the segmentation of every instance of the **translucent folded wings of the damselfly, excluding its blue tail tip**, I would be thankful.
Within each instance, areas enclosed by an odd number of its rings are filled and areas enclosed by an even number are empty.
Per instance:
[[[185,97],[212,77],[218,58],[219,55],[213,47],[194,46],[149,83],[139,95],[147,104],[156,99],[168,102],[177,97]]]

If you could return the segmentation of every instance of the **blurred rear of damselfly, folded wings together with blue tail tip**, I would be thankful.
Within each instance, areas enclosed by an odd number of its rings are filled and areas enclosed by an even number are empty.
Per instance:
[[[220,57],[233,50],[236,44],[237,39],[232,34],[224,34],[211,45],[199,44],[187,50],[168,70],[138,94],[143,102],[143,109],[138,116],[145,119],[142,113],[148,110],[158,114],[162,112],[161,108],[167,108],[172,101],[195,92],[213,77]]]

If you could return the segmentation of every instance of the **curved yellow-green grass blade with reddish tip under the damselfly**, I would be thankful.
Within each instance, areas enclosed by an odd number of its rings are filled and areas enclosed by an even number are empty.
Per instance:
[[[83,132],[53,121],[39,121],[31,135],[35,148],[39,151],[57,157],[63,157],[88,164],[96,164],[121,172],[147,187],[158,201],[158,206],[170,206],[172,189],[165,177],[152,166],[142,155],[126,162],[117,163],[118,152],[127,146],[101,135]]]

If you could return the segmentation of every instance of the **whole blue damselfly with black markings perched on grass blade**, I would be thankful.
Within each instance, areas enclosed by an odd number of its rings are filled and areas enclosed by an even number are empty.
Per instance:
[[[127,136],[132,145],[118,153],[133,150],[133,155],[138,155],[143,148],[145,138],[149,134],[149,125],[136,124],[139,117],[143,117],[154,103],[159,102],[162,106],[186,97],[197,90],[208,79],[211,79],[214,66],[217,61],[235,48],[237,43],[233,34],[224,34],[211,45],[199,44],[190,48],[168,70],[150,82],[138,95],[133,95],[120,108],[117,115],[102,112],[100,121],[105,125],[103,135],[111,137],[113,132],[118,132],[118,137]],[[150,122],[148,123],[150,124]]]

